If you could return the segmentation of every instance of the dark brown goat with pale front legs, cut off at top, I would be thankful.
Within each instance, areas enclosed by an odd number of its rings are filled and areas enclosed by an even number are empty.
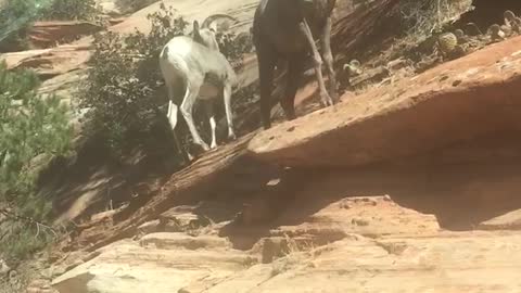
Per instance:
[[[335,0],[262,0],[253,21],[253,41],[258,60],[260,115],[265,129],[271,127],[274,71],[280,59],[288,61],[288,84],[280,104],[288,119],[295,118],[294,99],[305,60],[315,62],[322,106],[338,102],[336,77],[331,53],[331,13]],[[320,38],[320,56],[315,39]],[[329,76],[329,91],[322,77],[322,58]],[[331,94],[331,95],[330,95]],[[331,99],[332,98],[332,99]]]

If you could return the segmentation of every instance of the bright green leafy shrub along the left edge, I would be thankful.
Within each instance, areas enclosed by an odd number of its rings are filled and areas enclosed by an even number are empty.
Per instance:
[[[50,218],[52,199],[38,196],[36,180],[72,141],[66,106],[58,97],[38,95],[38,85],[34,73],[9,72],[0,63],[0,212],[16,215],[8,220],[0,215],[0,252],[15,254],[4,257],[26,256],[48,240],[35,221]]]

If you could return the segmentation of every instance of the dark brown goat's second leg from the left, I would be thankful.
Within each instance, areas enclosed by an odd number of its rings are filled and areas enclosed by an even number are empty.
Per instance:
[[[291,56],[288,62],[288,75],[284,97],[280,101],[282,110],[288,120],[296,118],[295,116],[295,94],[301,81],[302,69],[304,68],[305,54]]]

